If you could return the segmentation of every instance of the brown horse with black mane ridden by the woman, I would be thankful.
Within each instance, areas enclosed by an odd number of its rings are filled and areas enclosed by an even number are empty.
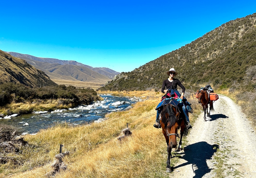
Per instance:
[[[176,138],[180,137],[179,147],[177,151],[180,151],[181,144],[182,144],[182,136],[188,134],[187,127],[185,126],[184,117],[182,116],[183,113],[178,112],[177,107],[172,106],[171,104],[167,104],[160,116],[160,124],[162,127],[162,131],[165,137],[165,141],[167,143],[167,152],[168,157],[166,161],[166,172],[172,172],[172,168],[170,166],[170,158],[172,157],[171,151],[172,148],[177,147]],[[184,114],[183,114],[184,115]],[[180,128],[180,136],[178,134],[178,129]]]

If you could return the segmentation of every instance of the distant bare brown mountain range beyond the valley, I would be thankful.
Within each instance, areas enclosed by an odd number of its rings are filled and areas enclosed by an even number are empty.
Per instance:
[[[73,60],[59,60],[54,58],[39,58],[29,54],[21,54],[16,52],[6,52],[12,56],[26,60],[28,63],[40,70],[45,71],[47,75],[49,72],[52,74],[49,75],[50,78],[53,78],[52,75],[64,75],[71,76],[74,78],[72,80],[80,80],[85,82],[96,82],[105,84],[108,80],[113,79],[115,75],[120,74],[112,69],[105,67],[93,68],[91,66],[79,63]],[[54,65],[52,65],[54,64]],[[53,67],[54,66],[54,67]],[[77,67],[79,66],[79,67]],[[72,70],[71,68],[74,69]],[[68,71],[67,71],[68,70]],[[80,72],[79,72],[80,71]],[[69,78],[70,80],[70,78]]]

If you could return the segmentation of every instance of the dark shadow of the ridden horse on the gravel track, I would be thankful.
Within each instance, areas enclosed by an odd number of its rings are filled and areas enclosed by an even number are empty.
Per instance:
[[[173,167],[177,169],[185,165],[192,165],[195,176],[193,178],[202,178],[211,169],[207,166],[206,160],[212,159],[213,154],[217,151],[219,145],[210,145],[207,142],[198,142],[188,145],[184,148],[184,154],[181,159],[185,159],[186,163]]]

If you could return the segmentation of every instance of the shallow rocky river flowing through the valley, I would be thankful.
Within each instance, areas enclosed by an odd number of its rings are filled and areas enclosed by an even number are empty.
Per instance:
[[[54,126],[57,123],[69,123],[70,125],[79,125],[94,122],[104,118],[107,113],[122,111],[136,101],[112,95],[101,95],[103,101],[95,102],[91,105],[69,108],[69,110],[55,110],[52,112],[35,112],[12,119],[0,119],[0,123],[12,125],[21,129],[23,134],[35,134],[41,129]],[[42,113],[42,114],[39,114]],[[23,126],[25,124],[28,126]]]

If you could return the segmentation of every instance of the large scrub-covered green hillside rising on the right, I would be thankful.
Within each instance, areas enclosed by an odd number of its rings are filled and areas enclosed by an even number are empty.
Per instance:
[[[122,72],[101,89],[158,90],[170,68],[179,72],[176,78],[187,86],[211,83],[220,88],[239,87],[248,78],[248,69],[256,65],[255,26],[256,13],[231,20],[178,50]]]

